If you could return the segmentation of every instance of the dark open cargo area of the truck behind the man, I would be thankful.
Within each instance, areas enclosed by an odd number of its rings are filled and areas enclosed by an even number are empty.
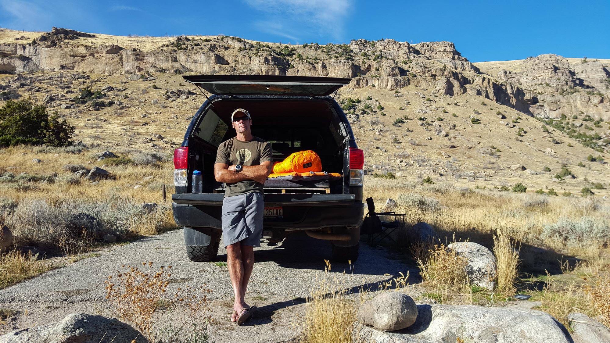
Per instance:
[[[312,150],[318,154],[323,171],[340,177],[307,181],[303,179],[268,179],[265,193],[343,193],[346,172],[345,149],[349,135],[328,99],[303,97],[248,99],[226,96],[213,99],[203,109],[201,120],[195,123],[189,139],[189,182],[193,170],[203,172],[203,193],[224,193],[221,182],[215,181],[213,164],[218,145],[235,137],[231,128],[231,113],[238,108],[249,111],[253,135],[271,143],[273,161],[284,161],[292,153]],[[187,190],[190,192],[190,189]]]

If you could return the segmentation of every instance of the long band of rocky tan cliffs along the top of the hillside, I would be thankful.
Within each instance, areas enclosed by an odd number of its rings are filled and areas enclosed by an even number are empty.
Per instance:
[[[580,112],[610,120],[610,72],[601,62],[571,65],[556,55],[488,74],[450,42],[353,40],[349,45],[288,46],[228,36],[177,37],[150,49],[107,44],[95,35],[53,28],[32,42],[0,45],[0,72],[77,70],[99,74],[266,74],[353,78],[352,87],[415,85],[445,95],[482,95],[524,114],[558,118]],[[87,43],[80,41],[87,38]],[[93,43],[92,43],[93,42]]]

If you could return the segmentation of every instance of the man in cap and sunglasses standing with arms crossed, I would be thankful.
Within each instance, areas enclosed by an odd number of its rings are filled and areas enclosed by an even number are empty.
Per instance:
[[[254,247],[260,247],[263,229],[263,184],[273,170],[271,144],[254,137],[251,116],[245,109],[231,114],[237,132],[218,146],[214,176],[225,182],[222,225],[224,247],[235,303],[231,322],[242,325],[256,306],[245,302],[246,287],[254,266]]]

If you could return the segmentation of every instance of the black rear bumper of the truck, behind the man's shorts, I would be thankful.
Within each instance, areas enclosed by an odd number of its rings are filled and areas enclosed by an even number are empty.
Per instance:
[[[328,195],[325,195],[328,197]],[[267,200],[268,195],[265,195]],[[174,200],[175,201],[175,200]],[[359,228],[364,217],[364,203],[332,204],[285,203],[265,201],[265,206],[284,206],[284,218],[265,218],[265,229]],[[213,205],[173,203],[174,220],[179,226],[222,229],[222,201]]]

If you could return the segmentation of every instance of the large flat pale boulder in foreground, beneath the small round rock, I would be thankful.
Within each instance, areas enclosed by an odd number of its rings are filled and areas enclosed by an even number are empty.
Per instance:
[[[354,343],[571,343],[565,327],[542,311],[474,305],[417,305],[410,327],[385,332],[354,323]]]

